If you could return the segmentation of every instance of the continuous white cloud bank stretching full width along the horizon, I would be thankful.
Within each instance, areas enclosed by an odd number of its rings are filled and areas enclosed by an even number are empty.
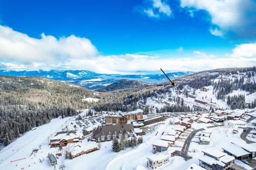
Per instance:
[[[106,74],[132,74],[160,68],[200,71],[256,65],[255,43],[240,44],[230,55],[218,57],[201,51],[187,54],[183,47],[164,57],[161,52],[99,56],[96,47],[86,38],[72,35],[56,39],[42,34],[42,38],[36,39],[0,26],[0,46],[2,69],[87,69]]]

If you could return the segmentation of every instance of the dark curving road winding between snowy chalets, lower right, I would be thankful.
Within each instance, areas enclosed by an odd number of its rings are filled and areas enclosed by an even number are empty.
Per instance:
[[[218,127],[218,126],[223,126],[223,125],[209,126],[209,127],[207,127],[207,129],[209,129],[209,128],[215,128],[215,127]],[[185,160],[189,160],[189,159],[192,158],[192,157],[190,157],[190,156],[187,155],[187,151],[188,151],[190,142],[191,142],[191,140],[194,138],[194,136],[196,135],[197,132],[200,132],[200,131],[203,131],[203,130],[205,130],[205,128],[201,128],[201,129],[192,131],[192,132],[188,135],[188,137],[186,138],[186,140],[185,140],[185,142],[184,142],[184,144],[183,144],[183,147],[182,147],[181,151],[176,151],[176,153],[178,154],[178,156],[183,157]]]

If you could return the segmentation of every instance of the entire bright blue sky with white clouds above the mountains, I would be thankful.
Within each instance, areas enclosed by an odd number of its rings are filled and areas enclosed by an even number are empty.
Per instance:
[[[0,0],[0,69],[256,65],[254,0]]]

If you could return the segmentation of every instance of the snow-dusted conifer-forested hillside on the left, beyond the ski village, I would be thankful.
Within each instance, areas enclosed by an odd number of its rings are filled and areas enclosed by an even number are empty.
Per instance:
[[[97,93],[84,87],[38,77],[0,77],[0,143],[9,144],[52,118],[76,115],[82,109],[135,109],[140,94],[153,89]],[[97,98],[98,102],[83,99]]]

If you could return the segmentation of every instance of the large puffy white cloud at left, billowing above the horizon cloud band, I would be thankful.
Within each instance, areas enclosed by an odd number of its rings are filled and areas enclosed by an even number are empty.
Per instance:
[[[30,63],[63,62],[97,55],[97,49],[86,38],[71,35],[56,39],[42,33],[36,39],[4,26],[0,26],[0,46],[0,58]]]

